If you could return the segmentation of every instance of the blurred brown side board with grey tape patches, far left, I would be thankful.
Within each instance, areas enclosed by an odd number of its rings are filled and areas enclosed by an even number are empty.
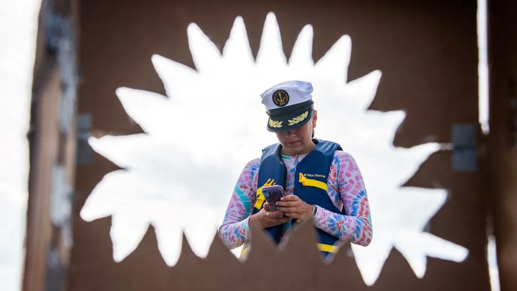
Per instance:
[[[71,198],[75,183],[73,3],[43,1],[34,66],[25,291],[67,289]],[[51,22],[49,20],[52,19]],[[51,23],[49,25],[49,23]],[[68,208],[68,211],[66,211]]]

